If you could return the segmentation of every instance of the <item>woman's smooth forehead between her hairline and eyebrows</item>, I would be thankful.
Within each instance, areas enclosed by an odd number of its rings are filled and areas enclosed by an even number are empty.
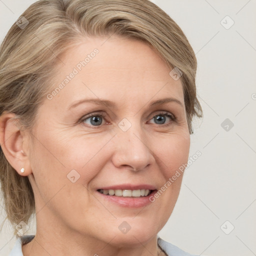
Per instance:
[[[167,64],[142,41],[120,36],[84,38],[60,58],[50,91],[55,91],[52,103],[95,97],[123,105],[128,99],[139,103],[163,96],[183,102],[181,80],[174,80]]]

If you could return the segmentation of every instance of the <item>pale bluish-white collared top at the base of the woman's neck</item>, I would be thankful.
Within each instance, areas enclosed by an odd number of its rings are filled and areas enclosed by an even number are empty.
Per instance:
[[[22,244],[28,243],[33,239],[33,237],[34,237],[34,235],[22,235],[22,236],[18,237],[9,256],[23,256],[22,249],[21,249],[21,243]],[[170,256],[170,255],[171,256],[193,256],[193,255],[181,250],[177,246],[162,240],[158,236],[157,236],[157,243],[168,256]]]

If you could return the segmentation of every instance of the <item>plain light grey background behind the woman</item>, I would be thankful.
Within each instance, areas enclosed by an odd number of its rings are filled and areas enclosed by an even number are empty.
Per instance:
[[[256,1],[152,1],[176,21],[196,53],[204,113],[194,121],[190,147],[190,155],[200,150],[201,156],[185,171],[159,236],[198,255],[256,255]],[[0,0],[0,41],[32,2]],[[34,232],[31,225],[28,233]],[[14,242],[5,222],[0,255],[8,255]]]

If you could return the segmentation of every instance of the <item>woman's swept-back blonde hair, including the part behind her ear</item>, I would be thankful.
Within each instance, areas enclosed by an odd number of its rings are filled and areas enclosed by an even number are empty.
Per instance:
[[[15,113],[32,129],[36,110],[45,99],[61,53],[84,36],[120,35],[142,40],[166,64],[177,67],[189,132],[194,115],[201,117],[196,97],[195,54],[179,26],[149,0],[39,0],[14,23],[0,47],[0,114]],[[27,20],[27,21],[26,21]],[[34,196],[27,176],[11,167],[0,150],[0,180],[6,218],[28,222]],[[14,233],[16,230],[14,229]]]

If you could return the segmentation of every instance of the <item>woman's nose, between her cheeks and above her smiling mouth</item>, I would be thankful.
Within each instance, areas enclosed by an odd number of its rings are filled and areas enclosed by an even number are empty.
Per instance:
[[[132,124],[126,131],[118,130],[114,138],[115,151],[112,156],[115,167],[126,167],[133,171],[139,171],[152,165],[155,158],[153,148],[149,148],[150,143],[148,141],[148,137],[146,137],[140,125],[135,127]]]

